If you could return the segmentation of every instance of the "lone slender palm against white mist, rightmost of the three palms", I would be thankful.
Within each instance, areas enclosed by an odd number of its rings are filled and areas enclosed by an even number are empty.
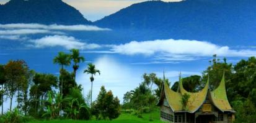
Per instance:
[[[91,82],[91,86],[90,86],[90,107],[92,107],[92,82],[94,81],[94,75],[99,73],[100,71],[99,69],[95,68],[95,65],[93,65],[92,63],[88,64],[88,68],[86,70],[84,70],[84,73],[90,74],[90,82]]]

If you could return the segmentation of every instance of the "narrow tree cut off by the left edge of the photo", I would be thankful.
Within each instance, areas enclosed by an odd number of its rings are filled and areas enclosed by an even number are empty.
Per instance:
[[[4,110],[4,88],[3,88],[3,85],[5,82],[6,81],[4,79],[4,65],[0,65],[1,106],[2,106],[1,114],[3,114],[3,110]]]

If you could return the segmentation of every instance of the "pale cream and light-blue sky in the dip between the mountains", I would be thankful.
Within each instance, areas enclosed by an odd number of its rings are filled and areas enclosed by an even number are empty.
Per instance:
[[[4,4],[9,0],[0,0]],[[95,21],[107,15],[113,14],[120,9],[131,6],[145,0],[63,0],[78,9],[87,20]],[[164,0],[166,2],[177,2],[180,0]]]

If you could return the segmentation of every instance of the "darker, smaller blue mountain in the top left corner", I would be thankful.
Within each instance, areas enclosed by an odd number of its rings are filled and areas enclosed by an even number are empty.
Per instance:
[[[91,24],[61,0],[11,0],[0,6],[0,23]]]

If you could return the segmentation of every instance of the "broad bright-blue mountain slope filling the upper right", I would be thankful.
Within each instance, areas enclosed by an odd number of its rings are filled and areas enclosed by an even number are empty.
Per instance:
[[[256,44],[255,0],[146,1],[97,20],[141,39],[196,39]]]

